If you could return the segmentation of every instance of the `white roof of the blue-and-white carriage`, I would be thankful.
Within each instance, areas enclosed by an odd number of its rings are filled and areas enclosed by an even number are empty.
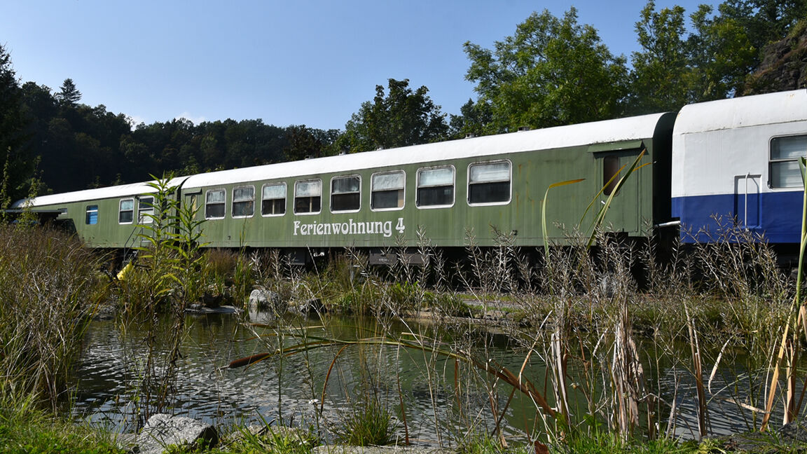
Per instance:
[[[807,90],[720,99],[684,106],[674,136],[807,120]]]

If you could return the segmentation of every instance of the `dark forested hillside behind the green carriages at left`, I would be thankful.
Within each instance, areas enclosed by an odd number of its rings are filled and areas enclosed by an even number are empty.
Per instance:
[[[337,131],[261,120],[194,125],[175,119],[132,128],[123,114],[80,103],[81,93],[70,79],[56,94],[34,82],[23,84],[21,91],[30,146],[40,157],[40,179],[56,192],[142,181],[149,174],[301,159],[321,153],[337,136]]]

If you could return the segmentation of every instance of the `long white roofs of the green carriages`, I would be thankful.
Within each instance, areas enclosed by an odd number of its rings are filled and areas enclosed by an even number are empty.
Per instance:
[[[305,161],[281,162],[266,166],[246,167],[244,169],[220,170],[206,174],[195,174],[189,177],[178,177],[173,179],[171,184],[176,185],[184,180],[183,189],[211,187],[324,173],[347,173],[355,170],[403,166],[420,162],[450,161],[474,157],[484,158],[504,153],[521,153],[616,141],[636,141],[653,137],[656,124],[658,124],[663,115],[633,116],[617,120],[571,124],[555,128],[536,129],[534,131],[510,132],[495,136],[413,145],[396,149],[382,149],[327,158],[307,159]],[[31,206],[117,198],[153,191],[153,188],[146,183],[132,183],[88,189],[86,191],[66,192],[64,194],[41,195],[33,200]],[[22,207],[23,202],[24,200],[19,200],[14,204],[13,208]]]

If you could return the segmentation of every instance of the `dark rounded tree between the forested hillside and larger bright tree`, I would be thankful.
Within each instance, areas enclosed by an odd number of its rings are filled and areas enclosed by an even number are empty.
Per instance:
[[[350,152],[418,145],[445,139],[448,124],[440,106],[433,103],[426,86],[409,88],[409,79],[389,79],[389,92],[375,86],[373,101],[362,103],[345,124],[335,143]]]

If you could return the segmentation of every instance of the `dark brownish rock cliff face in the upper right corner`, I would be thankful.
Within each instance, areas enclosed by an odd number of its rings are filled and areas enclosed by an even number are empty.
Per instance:
[[[784,40],[768,44],[763,55],[759,70],[749,76],[741,95],[807,87],[807,19]]]

